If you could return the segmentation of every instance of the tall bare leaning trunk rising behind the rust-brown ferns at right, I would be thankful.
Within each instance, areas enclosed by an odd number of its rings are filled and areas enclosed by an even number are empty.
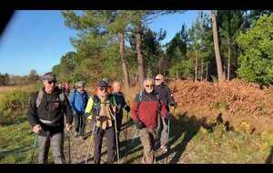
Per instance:
[[[219,48],[219,42],[218,42],[217,19],[216,19],[215,12],[213,10],[211,10],[211,21],[212,21],[212,33],[213,33],[215,57],[217,62],[217,76],[218,76],[218,81],[222,82],[225,80],[225,78],[223,73],[223,66],[222,66],[222,60],[220,56],[220,48]]]

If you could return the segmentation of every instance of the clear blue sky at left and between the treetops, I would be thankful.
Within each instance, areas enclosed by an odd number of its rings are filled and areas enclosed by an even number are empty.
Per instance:
[[[163,15],[149,25],[154,31],[167,30],[167,37],[161,42],[166,44],[181,29],[187,28],[197,17],[197,11],[185,14]],[[76,31],[64,25],[64,19],[58,10],[16,11],[0,37],[0,73],[24,76],[31,69],[38,74],[51,71],[59,63],[61,56],[75,50],[69,38]]]

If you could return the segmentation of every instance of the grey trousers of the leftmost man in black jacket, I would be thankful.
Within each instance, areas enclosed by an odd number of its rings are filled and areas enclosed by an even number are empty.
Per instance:
[[[51,147],[56,164],[65,163],[64,156],[64,133],[56,133],[53,136],[38,136],[39,143],[39,163],[46,164],[48,151]]]

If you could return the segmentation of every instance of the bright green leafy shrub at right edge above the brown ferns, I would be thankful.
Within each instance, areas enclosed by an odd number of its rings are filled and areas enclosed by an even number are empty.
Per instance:
[[[273,84],[273,15],[262,15],[237,38],[242,54],[238,57],[238,76],[249,82]]]

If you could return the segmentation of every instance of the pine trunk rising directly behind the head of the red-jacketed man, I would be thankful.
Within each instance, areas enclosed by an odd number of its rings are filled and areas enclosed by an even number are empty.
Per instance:
[[[138,84],[141,89],[143,89],[143,81],[145,77],[144,73],[144,65],[143,65],[143,56],[141,52],[141,22],[136,24],[136,54],[137,54],[137,62],[138,62]]]

